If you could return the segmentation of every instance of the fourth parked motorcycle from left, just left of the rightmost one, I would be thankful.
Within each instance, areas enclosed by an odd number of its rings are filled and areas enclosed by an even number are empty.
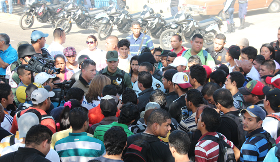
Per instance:
[[[162,13],[162,10],[160,10],[160,13]],[[160,14],[154,14],[154,10],[145,5],[138,22],[142,24],[142,27],[146,27],[147,25],[147,34],[158,39],[161,33],[169,28],[165,25],[167,23],[173,22],[173,18],[174,17],[172,16],[164,19]]]

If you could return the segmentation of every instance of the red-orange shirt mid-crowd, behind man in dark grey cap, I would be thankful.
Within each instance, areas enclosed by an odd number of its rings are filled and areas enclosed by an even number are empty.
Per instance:
[[[116,116],[120,116],[120,110],[117,111]],[[96,107],[90,109],[88,111],[88,123],[90,125],[94,125],[96,123],[99,123],[104,118],[104,115],[101,113],[100,104],[98,104]]]

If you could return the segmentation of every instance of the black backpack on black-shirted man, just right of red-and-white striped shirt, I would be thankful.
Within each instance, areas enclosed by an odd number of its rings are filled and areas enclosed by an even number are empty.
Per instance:
[[[238,145],[236,147],[240,150],[243,143],[246,141],[246,135],[248,134],[247,131],[243,130],[242,118],[237,117],[236,115],[233,115],[233,114],[230,114],[230,113],[226,113],[226,114],[222,115],[221,117],[230,118],[237,125]]]

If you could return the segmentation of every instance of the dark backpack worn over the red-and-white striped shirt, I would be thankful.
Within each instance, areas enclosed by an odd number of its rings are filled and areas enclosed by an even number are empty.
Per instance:
[[[224,140],[224,137],[218,133],[218,137],[206,135],[202,138],[202,140],[211,140],[214,142],[217,142],[219,144],[219,157],[218,162],[227,161],[227,162],[236,162],[234,151],[230,147],[229,144],[227,144]]]

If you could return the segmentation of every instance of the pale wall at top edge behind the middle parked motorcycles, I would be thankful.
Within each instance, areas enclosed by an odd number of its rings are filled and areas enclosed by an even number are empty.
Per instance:
[[[143,11],[144,5],[150,6],[155,13],[159,13],[159,10],[163,12],[170,12],[170,0],[126,0],[126,6],[129,7],[129,12],[136,13]]]

